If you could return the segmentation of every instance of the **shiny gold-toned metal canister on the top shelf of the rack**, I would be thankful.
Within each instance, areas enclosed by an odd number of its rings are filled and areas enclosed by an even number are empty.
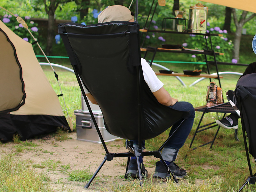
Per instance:
[[[206,33],[208,7],[198,3],[190,6],[188,31],[192,33]]]

